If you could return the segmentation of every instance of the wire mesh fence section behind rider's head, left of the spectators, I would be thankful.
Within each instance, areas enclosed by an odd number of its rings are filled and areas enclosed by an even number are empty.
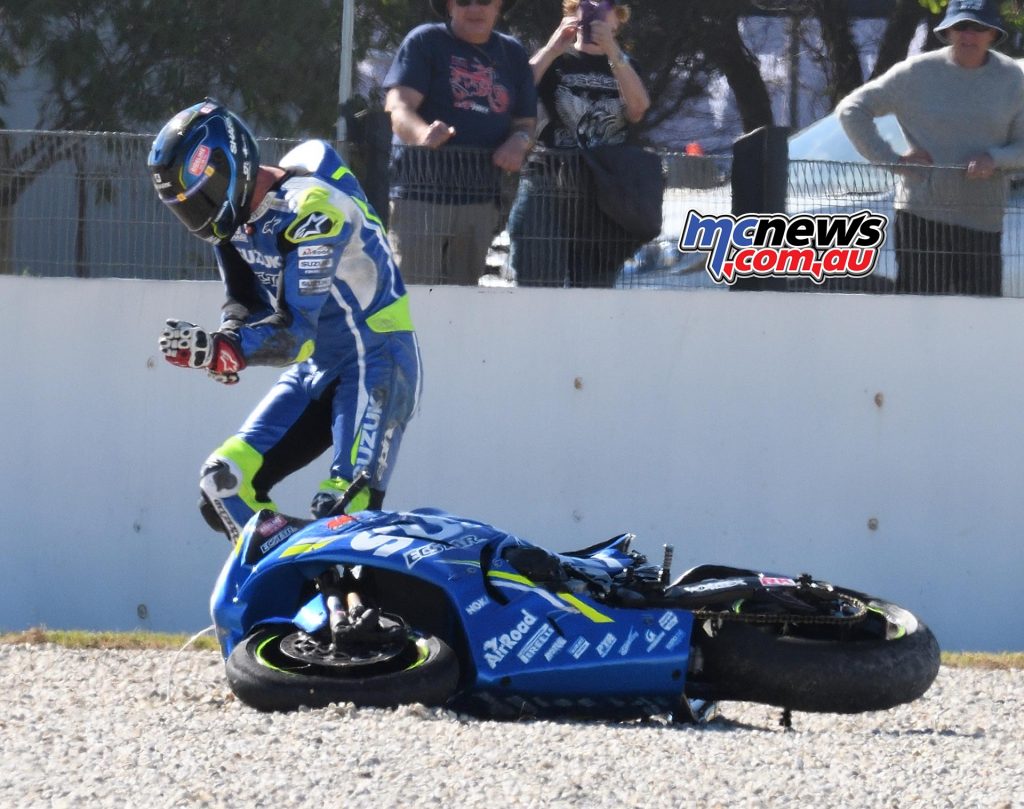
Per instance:
[[[209,245],[157,199],[153,135],[0,132],[0,273],[217,278]],[[297,141],[261,141],[273,160]]]

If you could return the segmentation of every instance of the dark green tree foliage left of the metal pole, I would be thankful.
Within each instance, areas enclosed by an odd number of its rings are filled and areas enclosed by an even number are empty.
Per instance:
[[[338,0],[29,0],[5,17],[19,65],[52,87],[40,126],[152,129],[209,94],[267,134],[334,129]]]

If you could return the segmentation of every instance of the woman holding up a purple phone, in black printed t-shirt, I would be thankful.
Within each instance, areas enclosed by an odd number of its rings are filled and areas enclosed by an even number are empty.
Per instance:
[[[643,243],[600,210],[580,150],[626,142],[650,98],[616,39],[628,5],[563,0],[562,14],[529,60],[542,148],[523,170],[509,216],[510,261],[522,286],[610,287]]]

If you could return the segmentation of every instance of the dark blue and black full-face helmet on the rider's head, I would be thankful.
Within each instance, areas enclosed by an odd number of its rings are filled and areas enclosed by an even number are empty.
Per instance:
[[[168,121],[146,165],[161,201],[200,239],[224,242],[249,218],[259,147],[218,101],[207,98]]]

